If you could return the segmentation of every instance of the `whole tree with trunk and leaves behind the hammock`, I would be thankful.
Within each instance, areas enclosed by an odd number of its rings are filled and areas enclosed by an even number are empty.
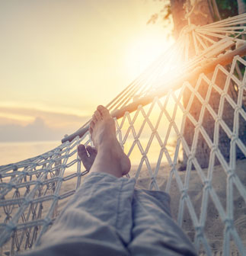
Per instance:
[[[241,3],[244,4],[244,0],[238,0],[238,2],[240,2],[240,4]],[[165,3],[164,5],[165,8],[162,9],[159,14],[155,14],[154,16],[152,16],[152,18],[149,20],[149,23],[151,22],[155,23],[156,21],[158,21],[159,18],[170,18],[170,15],[172,14],[172,18],[174,21],[174,37],[176,38],[180,34],[182,28],[187,25],[187,19],[185,18],[186,11],[184,9],[184,7],[187,5],[189,5],[188,8],[193,9],[193,11],[190,14],[190,22],[192,24],[201,25],[201,26],[212,23],[213,21],[219,20],[221,18],[234,16],[238,14],[239,9],[241,11],[243,8],[245,8],[245,5],[241,4],[239,6],[238,3],[235,2],[234,0],[217,0],[217,5],[215,1],[209,1],[209,0],[193,0],[193,1],[171,0],[170,2],[164,1],[164,3]],[[165,15],[163,13],[165,13]],[[215,38],[213,38],[213,40],[215,40]],[[190,39],[190,42],[191,41],[192,39]],[[192,46],[190,46],[190,48],[192,48]],[[193,55],[194,55],[194,51],[190,50],[189,57],[192,58]],[[209,78],[212,78],[212,74],[206,74],[206,75]],[[226,79],[226,76],[222,72],[219,72],[216,78],[216,85],[218,85],[220,88],[223,89],[225,86],[225,79]],[[193,85],[194,87],[196,85],[196,81],[190,81],[190,84]],[[199,93],[203,98],[206,98],[207,89],[208,89],[208,85],[205,82],[203,82],[199,88]],[[191,94],[191,91],[189,89],[186,89],[184,91],[184,95],[183,95],[184,107],[187,107],[187,104],[190,100],[190,94]],[[228,88],[228,94],[235,102],[237,102],[238,88],[234,82],[230,82],[230,86]],[[212,93],[210,94],[210,98],[209,98],[209,104],[212,107],[212,109],[215,110],[216,113],[218,113],[218,110],[219,110],[220,100],[221,100],[221,97],[219,93],[216,92],[215,90],[212,90]],[[201,107],[202,107],[202,104],[195,97],[193,99],[193,102],[190,108],[190,114],[196,120],[198,120],[200,117]],[[222,119],[225,121],[225,123],[227,124],[230,130],[233,130],[233,120],[234,120],[233,117],[234,117],[234,109],[228,103],[228,101],[225,100]],[[242,140],[242,142],[246,144],[246,122],[243,120],[243,118],[241,118],[239,121],[240,121],[239,137]],[[209,138],[213,142],[215,120],[213,120],[208,110],[205,111],[205,114],[203,117],[203,127],[206,130],[206,133],[209,135]],[[195,127],[187,118],[185,127],[184,127],[184,137],[190,148],[193,142],[194,129]],[[229,154],[230,154],[230,138],[228,138],[228,136],[226,135],[225,131],[222,129],[221,126],[219,128],[219,149],[220,149],[220,152],[222,152],[222,155],[224,156],[225,160],[228,162]],[[198,160],[202,168],[206,168],[208,166],[209,155],[210,155],[209,146],[206,144],[206,141],[205,139],[203,139],[203,136],[199,134],[199,139],[196,145],[196,159]],[[245,157],[244,154],[237,148],[237,158],[244,158],[244,157]],[[216,159],[216,164],[218,163],[219,161],[218,159]],[[185,170],[186,165],[187,165],[187,155],[184,152],[184,161],[180,169]]]

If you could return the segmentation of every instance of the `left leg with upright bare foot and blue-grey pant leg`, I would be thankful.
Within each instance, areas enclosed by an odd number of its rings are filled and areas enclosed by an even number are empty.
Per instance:
[[[97,147],[90,174],[26,255],[129,255],[135,180],[118,178],[129,171],[129,159],[117,142],[113,119],[99,109],[101,116],[95,113],[90,126]]]

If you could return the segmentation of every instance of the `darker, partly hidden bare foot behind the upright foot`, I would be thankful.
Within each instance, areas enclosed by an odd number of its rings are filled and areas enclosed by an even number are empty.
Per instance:
[[[94,159],[97,155],[97,149],[92,146],[86,146],[81,144],[78,146],[78,156],[81,158],[83,165],[87,171],[90,171],[91,165],[94,163]]]

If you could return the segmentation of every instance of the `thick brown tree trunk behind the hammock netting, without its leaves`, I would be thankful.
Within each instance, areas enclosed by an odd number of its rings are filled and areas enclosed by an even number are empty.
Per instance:
[[[177,37],[178,34],[181,32],[181,29],[185,25],[187,25],[187,21],[184,18],[186,14],[186,12],[184,11],[184,4],[186,4],[186,2],[187,2],[186,0],[171,0],[171,12],[173,14],[173,19],[174,19],[174,31],[175,31],[174,36],[175,37]],[[188,0],[188,4],[189,3],[190,1]],[[196,5],[193,8],[193,12],[190,15],[190,22],[191,24],[200,25],[200,26],[213,22],[212,10],[210,9],[209,2],[207,2],[206,0],[202,0],[202,1],[196,0]],[[189,57],[191,58],[193,55],[194,55],[194,51],[190,50]],[[211,79],[212,73],[206,74],[206,76],[209,79]],[[218,85],[220,88],[223,89],[225,86],[225,80],[226,80],[226,76],[224,75],[224,73],[219,72],[216,78],[216,85]],[[196,81],[190,81],[190,84],[193,87],[195,87]],[[208,85],[205,82],[200,84],[198,91],[200,95],[203,97],[203,99],[206,98],[207,89],[208,89]],[[231,98],[235,102],[237,102],[238,92],[236,91],[235,85],[233,85],[232,82],[228,89],[228,94],[231,96]],[[185,108],[187,107],[187,104],[190,100],[190,95],[191,95],[191,91],[189,89],[185,89],[183,94],[183,103]],[[212,107],[212,109],[215,110],[216,114],[218,114],[218,110],[219,110],[219,101],[220,101],[220,95],[216,91],[212,90],[209,98],[209,104]],[[199,120],[201,107],[202,107],[202,104],[200,103],[198,98],[194,97],[189,112],[196,121]],[[231,130],[233,130],[233,117],[234,117],[234,109],[231,107],[230,104],[228,104],[227,101],[225,101],[222,119],[225,121],[225,123]],[[209,114],[208,110],[205,111],[202,124],[209,138],[213,142],[215,120]],[[243,125],[243,127],[245,127],[245,124]],[[245,133],[243,130],[241,132]],[[187,118],[186,123],[184,125],[184,139],[186,140],[187,145],[189,146],[190,149],[193,143],[194,132],[195,132],[195,127],[193,126],[193,123],[191,123],[189,118]],[[230,139],[228,138],[226,133],[222,130],[222,127],[219,128],[219,150],[220,152],[222,152],[222,155],[224,156],[225,160],[228,161],[229,153],[230,153]],[[209,146],[207,145],[202,134],[200,133],[198,136],[198,142],[196,144],[195,156],[201,168],[208,167],[209,155],[210,155]],[[184,160],[180,168],[181,171],[185,170],[187,167],[187,154],[185,152],[183,152],[183,157],[184,157]],[[244,154],[242,154],[239,150],[238,150],[238,157],[239,158],[244,157]],[[219,164],[218,159],[216,159],[216,164]]]

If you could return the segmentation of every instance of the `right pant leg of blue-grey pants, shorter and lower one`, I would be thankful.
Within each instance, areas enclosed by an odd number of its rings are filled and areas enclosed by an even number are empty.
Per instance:
[[[163,191],[135,190],[132,242],[134,256],[196,255],[196,250],[170,213],[170,197]]]

